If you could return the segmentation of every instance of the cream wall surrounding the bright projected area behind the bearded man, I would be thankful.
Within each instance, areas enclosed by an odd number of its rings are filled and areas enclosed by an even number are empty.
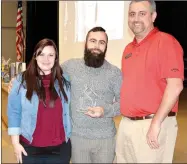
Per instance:
[[[65,18],[65,4],[68,3],[68,17]],[[75,9],[74,1],[59,1],[59,54],[60,63],[71,59],[83,57],[84,43],[74,42]],[[128,6],[130,1],[124,1],[124,35],[121,40],[110,40],[106,59],[121,68],[121,57],[125,46],[133,40],[133,34],[128,28]],[[117,18],[116,18],[117,19]],[[64,23],[68,22],[68,25]],[[67,38],[65,38],[65,33]],[[67,40],[66,40],[67,39]]]

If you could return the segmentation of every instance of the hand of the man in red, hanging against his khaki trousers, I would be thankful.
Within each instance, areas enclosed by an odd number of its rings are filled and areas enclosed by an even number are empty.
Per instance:
[[[158,149],[158,136],[160,133],[161,124],[151,123],[151,126],[147,132],[147,143],[151,149]]]

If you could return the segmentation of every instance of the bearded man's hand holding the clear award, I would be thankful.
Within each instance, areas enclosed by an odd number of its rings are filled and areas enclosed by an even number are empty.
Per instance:
[[[103,117],[104,109],[102,107],[93,107],[93,108],[89,107],[88,111],[85,112],[84,114],[94,118]]]

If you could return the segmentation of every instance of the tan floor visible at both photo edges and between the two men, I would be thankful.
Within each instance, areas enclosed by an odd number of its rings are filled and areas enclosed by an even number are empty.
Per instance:
[[[116,127],[118,127],[121,117],[115,118]],[[173,163],[187,163],[187,88],[183,90],[180,96],[178,120],[178,136],[175,147]],[[7,135],[7,129],[2,123],[2,163],[16,163],[10,138]]]

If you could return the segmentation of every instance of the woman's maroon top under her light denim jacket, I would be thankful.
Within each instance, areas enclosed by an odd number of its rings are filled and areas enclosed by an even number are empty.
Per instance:
[[[36,129],[33,133],[32,146],[47,147],[56,146],[65,141],[65,132],[62,118],[62,103],[58,97],[54,108],[49,107],[49,84],[50,76],[43,76],[42,82],[46,91],[46,107],[40,100],[38,105],[38,115]],[[20,137],[23,142],[29,144],[23,136]]]

